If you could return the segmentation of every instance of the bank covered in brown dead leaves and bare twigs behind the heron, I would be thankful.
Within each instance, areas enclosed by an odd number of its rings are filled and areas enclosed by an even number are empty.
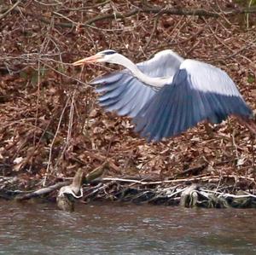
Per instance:
[[[61,188],[58,183],[71,182],[79,169],[87,175],[106,160],[108,171],[102,178],[112,179],[85,186],[84,194],[95,192],[91,199],[95,195],[99,200],[122,200],[125,195],[124,200],[129,200],[130,195],[130,200],[142,203],[144,198],[145,202],[154,198],[160,202],[160,190],[166,203],[168,192],[177,192],[170,198],[174,203],[191,184],[197,185],[191,193],[200,201],[206,199],[202,189],[211,190],[209,196],[212,191],[254,194],[255,137],[236,118],[220,125],[201,123],[180,136],[148,143],[134,132],[131,119],[105,113],[89,84],[92,78],[119,67],[86,66],[81,71],[70,65],[102,49],[115,49],[134,62],[173,49],[185,58],[226,71],[247,104],[256,109],[253,11],[245,14],[241,10],[247,6],[229,0],[219,1],[218,6],[211,1],[186,0],[170,1],[170,9],[206,12],[155,13],[143,11],[148,8],[146,2],[88,1],[86,7],[84,1],[3,3],[1,197],[55,187],[49,193],[49,199],[54,199]],[[162,1],[150,4],[166,10]],[[140,11],[133,12],[134,8]],[[230,9],[236,14],[227,11]],[[113,16],[117,11],[118,17]],[[127,12],[131,15],[125,15]],[[165,188],[170,189],[166,194]],[[84,197],[87,199],[90,201]]]

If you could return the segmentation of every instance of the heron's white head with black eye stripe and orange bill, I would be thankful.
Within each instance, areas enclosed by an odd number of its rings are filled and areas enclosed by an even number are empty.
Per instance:
[[[119,55],[113,49],[106,49],[96,53],[96,55],[91,55],[82,60],[73,62],[73,66],[80,66],[88,63],[98,63],[98,62],[108,62],[108,63],[118,64],[120,56],[121,55]]]

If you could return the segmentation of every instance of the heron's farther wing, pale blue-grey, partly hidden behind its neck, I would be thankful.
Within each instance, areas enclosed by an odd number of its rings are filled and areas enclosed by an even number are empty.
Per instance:
[[[163,50],[149,61],[138,63],[137,67],[152,78],[173,77],[182,61],[183,58],[172,50]],[[102,107],[131,117],[135,117],[157,92],[156,88],[143,84],[127,69],[96,78],[90,84],[99,84],[96,91],[102,93],[99,97]]]

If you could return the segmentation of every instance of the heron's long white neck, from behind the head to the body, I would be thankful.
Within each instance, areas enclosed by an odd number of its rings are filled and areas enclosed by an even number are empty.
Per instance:
[[[148,84],[153,87],[162,87],[166,84],[169,84],[172,82],[172,78],[152,78],[148,75],[141,72],[137,66],[131,62],[129,59],[127,59],[124,55],[119,55],[119,61],[115,62],[116,64],[122,65],[123,67],[126,67],[128,70],[132,72],[132,74],[138,78],[140,81],[142,81],[144,84]]]

